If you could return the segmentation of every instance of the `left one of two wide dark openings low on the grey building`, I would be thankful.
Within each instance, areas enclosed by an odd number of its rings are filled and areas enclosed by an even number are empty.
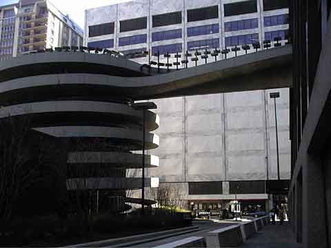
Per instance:
[[[188,194],[223,194],[222,182],[188,183]]]

